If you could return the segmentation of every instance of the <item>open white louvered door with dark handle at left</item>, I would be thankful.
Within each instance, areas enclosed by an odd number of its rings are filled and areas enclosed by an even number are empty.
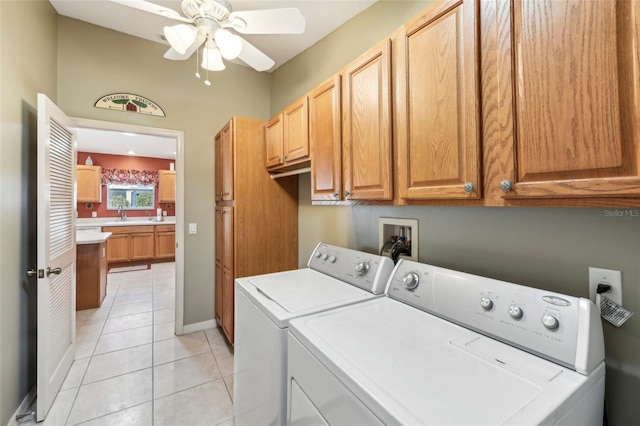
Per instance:
[[[38,94],[38,421],[75,355],[75,163],[69,118]]]

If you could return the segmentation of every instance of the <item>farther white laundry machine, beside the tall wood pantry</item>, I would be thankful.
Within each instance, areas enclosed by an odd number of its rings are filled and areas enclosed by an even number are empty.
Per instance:
[[[235,281],[236,425],[283,425],[292,318],[384,296],[393,261],[319,243],[308,268]]]

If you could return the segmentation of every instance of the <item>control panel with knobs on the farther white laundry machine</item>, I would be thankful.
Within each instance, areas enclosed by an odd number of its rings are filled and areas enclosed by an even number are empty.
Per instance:
[[[386,256],[319,243],[307,263],[309,268],[372,292],[384,293],[393,271]]]

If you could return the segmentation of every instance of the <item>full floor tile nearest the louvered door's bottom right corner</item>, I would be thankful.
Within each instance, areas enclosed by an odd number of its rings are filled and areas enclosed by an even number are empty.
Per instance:
[[[151,367],[151,344],[91,357],[82,384],[97,382]]]

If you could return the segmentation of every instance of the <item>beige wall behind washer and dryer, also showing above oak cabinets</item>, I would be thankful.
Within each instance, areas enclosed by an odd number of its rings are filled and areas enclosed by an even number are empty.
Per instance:
[[[273,73],[271,114],[317,86],[425,3],[381,1]],[[380,217],[419,221],[420,261],[587,297],[588,267],[622,271],[624,304],[640,312],[640,217],[607,209],[312,206],[299,177],[299,259],[318,241],[377,252]],[[623,213],[624,214],[624,213]],[[604,323],[609,424],[637,423],[640,321]]]

